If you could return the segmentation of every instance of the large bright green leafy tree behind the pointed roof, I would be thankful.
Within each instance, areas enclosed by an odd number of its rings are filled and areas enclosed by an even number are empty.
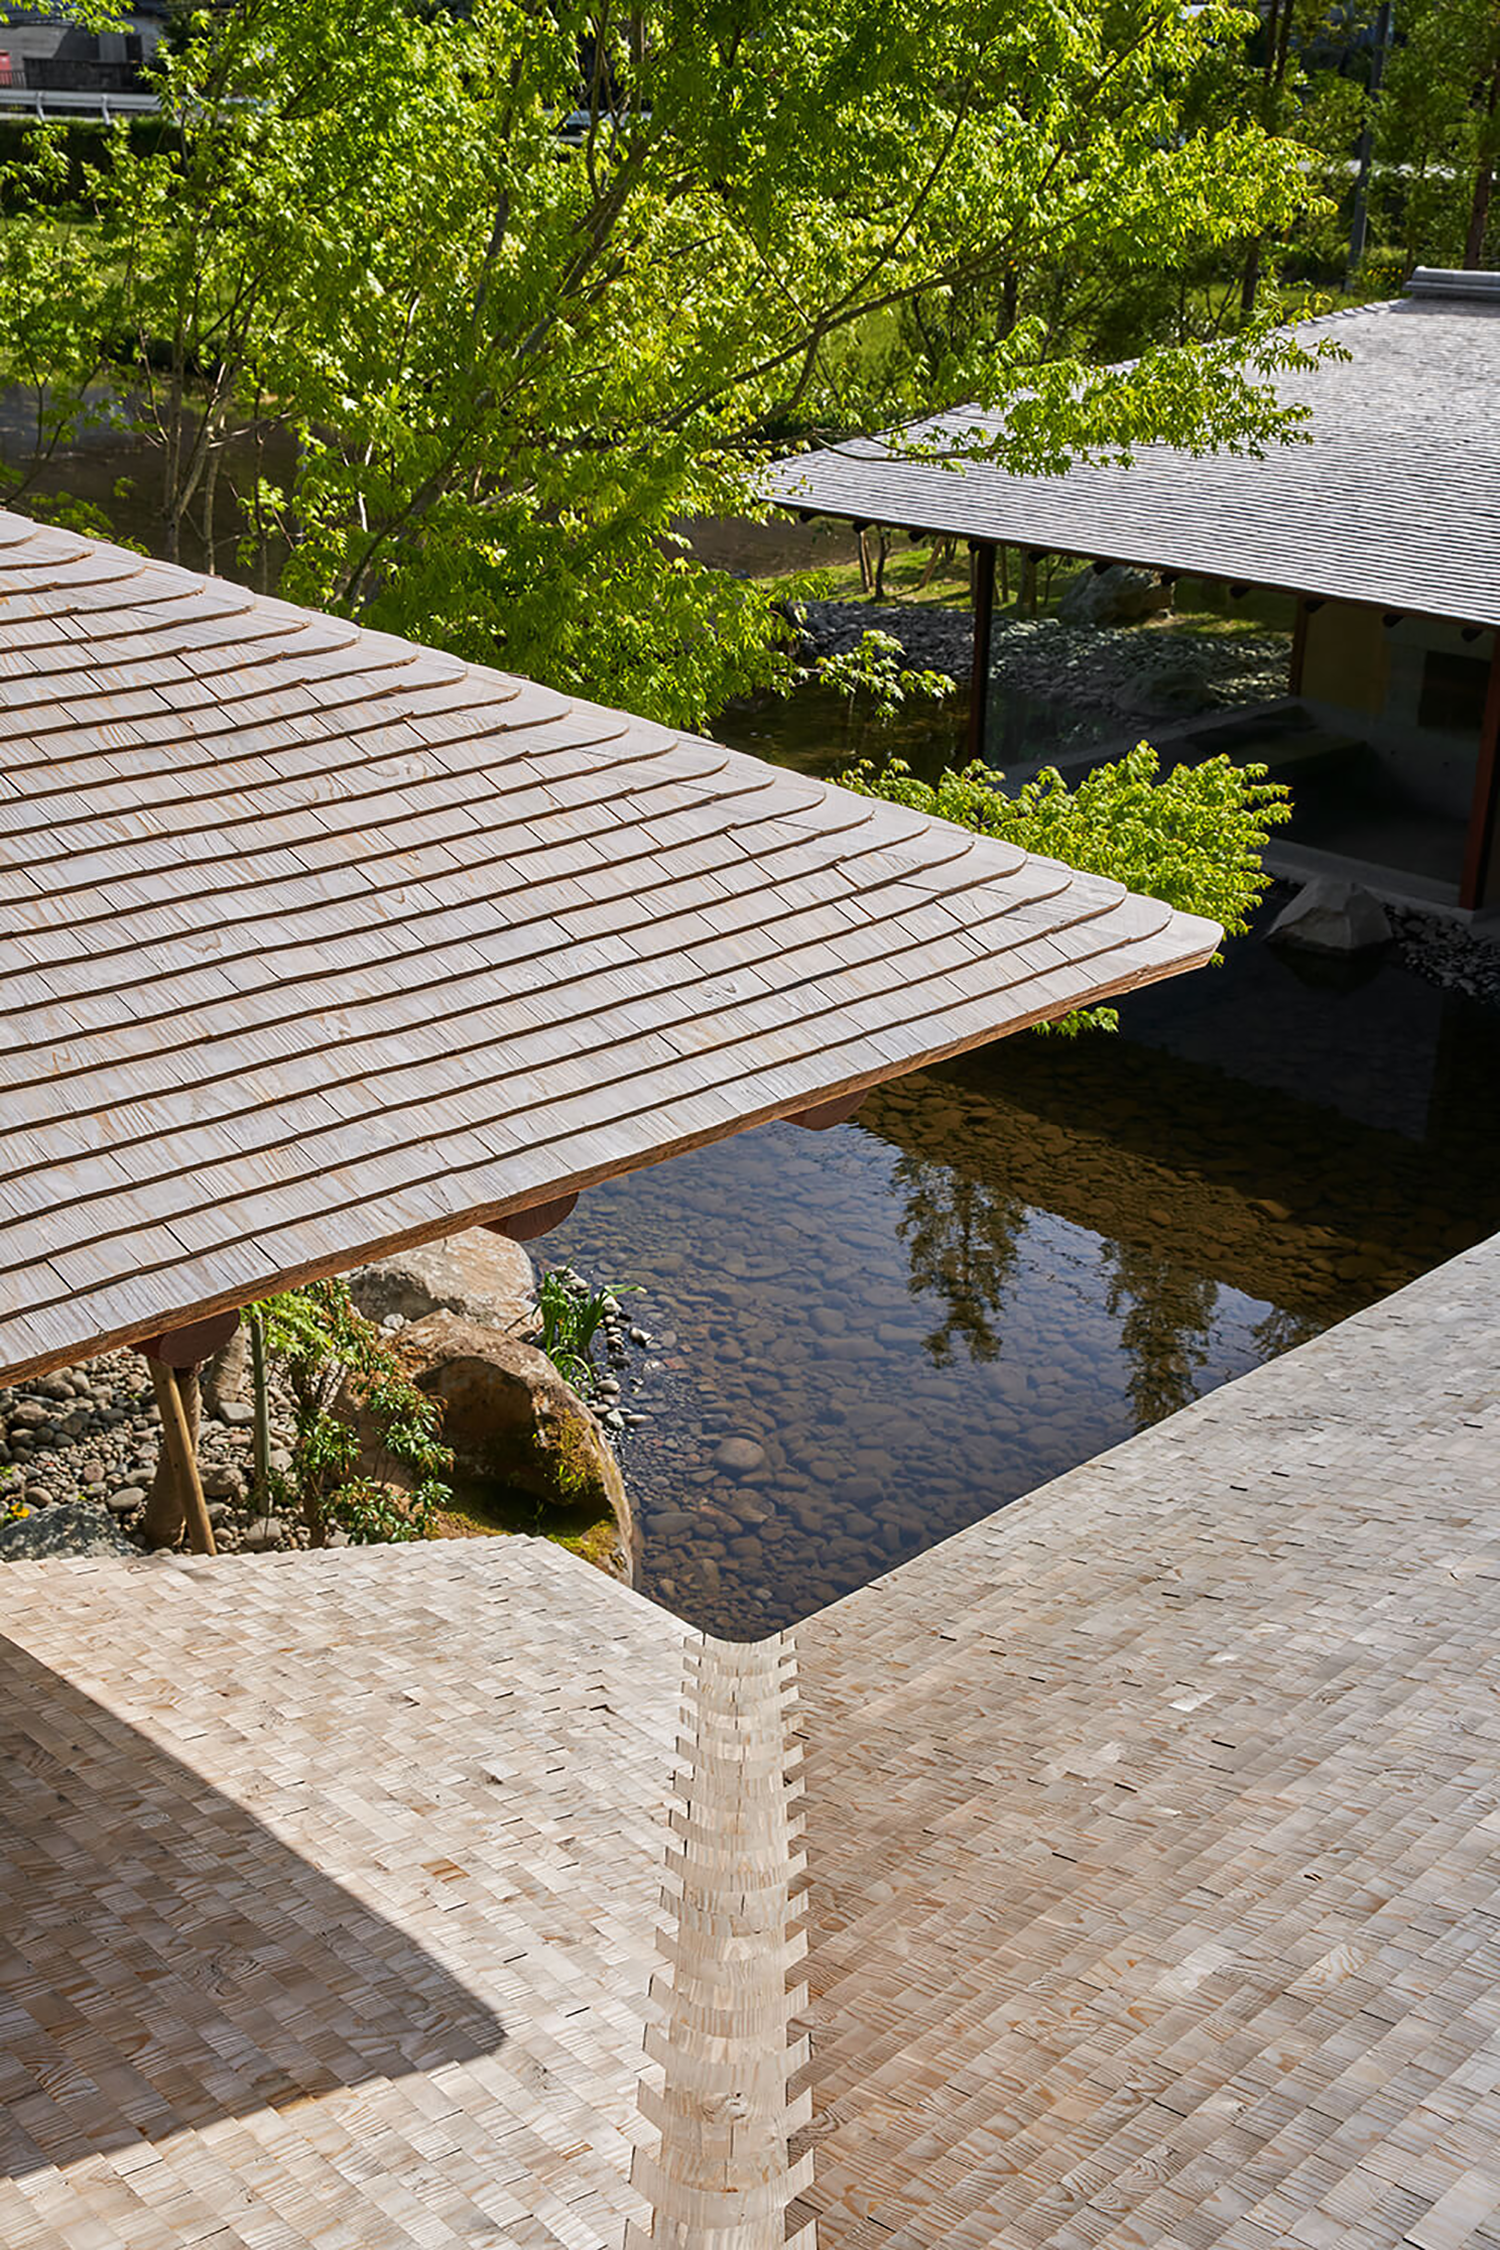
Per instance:
[[[1023,466],[1286,432],[1268,333],[1097,369],[963,313],[1291,223],[1295,153],[1183,106],[1241,32],[1235,0],[229,0],[162,61],[155,140],[79,191],[45,140],[0,171],[0,378],[67,421],[115,369],[166,554],[234,540],[292,598],[702,724],[787,659],[679,524],[751,506],[787,434],[967,398]]]

